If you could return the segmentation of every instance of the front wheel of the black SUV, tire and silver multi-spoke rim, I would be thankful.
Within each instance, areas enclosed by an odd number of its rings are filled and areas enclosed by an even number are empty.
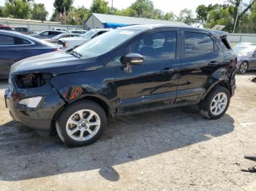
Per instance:
[[[92,144],[99,139],[106,126],[104,109],[88,100],[67,106],[56,121],[59,138],[68,146]]]

